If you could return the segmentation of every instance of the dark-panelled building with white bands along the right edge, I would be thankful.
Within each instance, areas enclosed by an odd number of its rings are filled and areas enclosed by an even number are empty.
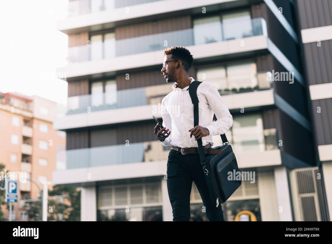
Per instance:
[[[332,2],[297,0],[297,19],[302,42],[304,75],[310,94],[309,107],[323,172],[326,202],[332,218]]]

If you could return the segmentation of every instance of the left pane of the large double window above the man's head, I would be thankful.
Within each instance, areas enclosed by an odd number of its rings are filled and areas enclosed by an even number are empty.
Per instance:
[[[196,19],[193,24],[195,45],[222,40],[220,16]]]

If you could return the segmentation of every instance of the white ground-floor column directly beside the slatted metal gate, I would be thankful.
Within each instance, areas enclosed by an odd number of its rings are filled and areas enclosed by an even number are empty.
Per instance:
[[[277,190],[279,219],[280,221],[293,221],[290,183],[286,166],[274,168],[274,179]]]

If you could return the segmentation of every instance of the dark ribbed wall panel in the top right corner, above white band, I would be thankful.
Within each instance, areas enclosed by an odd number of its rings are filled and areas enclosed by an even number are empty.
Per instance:
[[[331,0],[295,0],[300,29],[332,25]]]

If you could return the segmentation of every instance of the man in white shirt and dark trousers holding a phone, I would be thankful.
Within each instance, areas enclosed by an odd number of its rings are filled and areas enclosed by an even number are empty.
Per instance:
[[[233,118],[218,90],[203,81],[197,88],[200,125],[194,127],[193,104],[188,90],[194,81],[188,76],[194,58],[182,46],[167,48],[164,55],[161,72],[167,83],[174,84],[173,91],[161,102],[164,110],[163,128],[160,129],[157,123],[154,133],[164,146],[172,145],[167,160],[167,190],[173,209],[173,221],[189,221],[193,181],[201,195],[208,220],[224,221],[221,204],[216,207],[216,203],[210,199],[199,154],[183,154],[181,148],[196,147],[198,152],[197,140],[200,138],[205,148],[211,148],[212,135],[225,133],[232,126]],[[213,113],[217,118],[214,122]]]

